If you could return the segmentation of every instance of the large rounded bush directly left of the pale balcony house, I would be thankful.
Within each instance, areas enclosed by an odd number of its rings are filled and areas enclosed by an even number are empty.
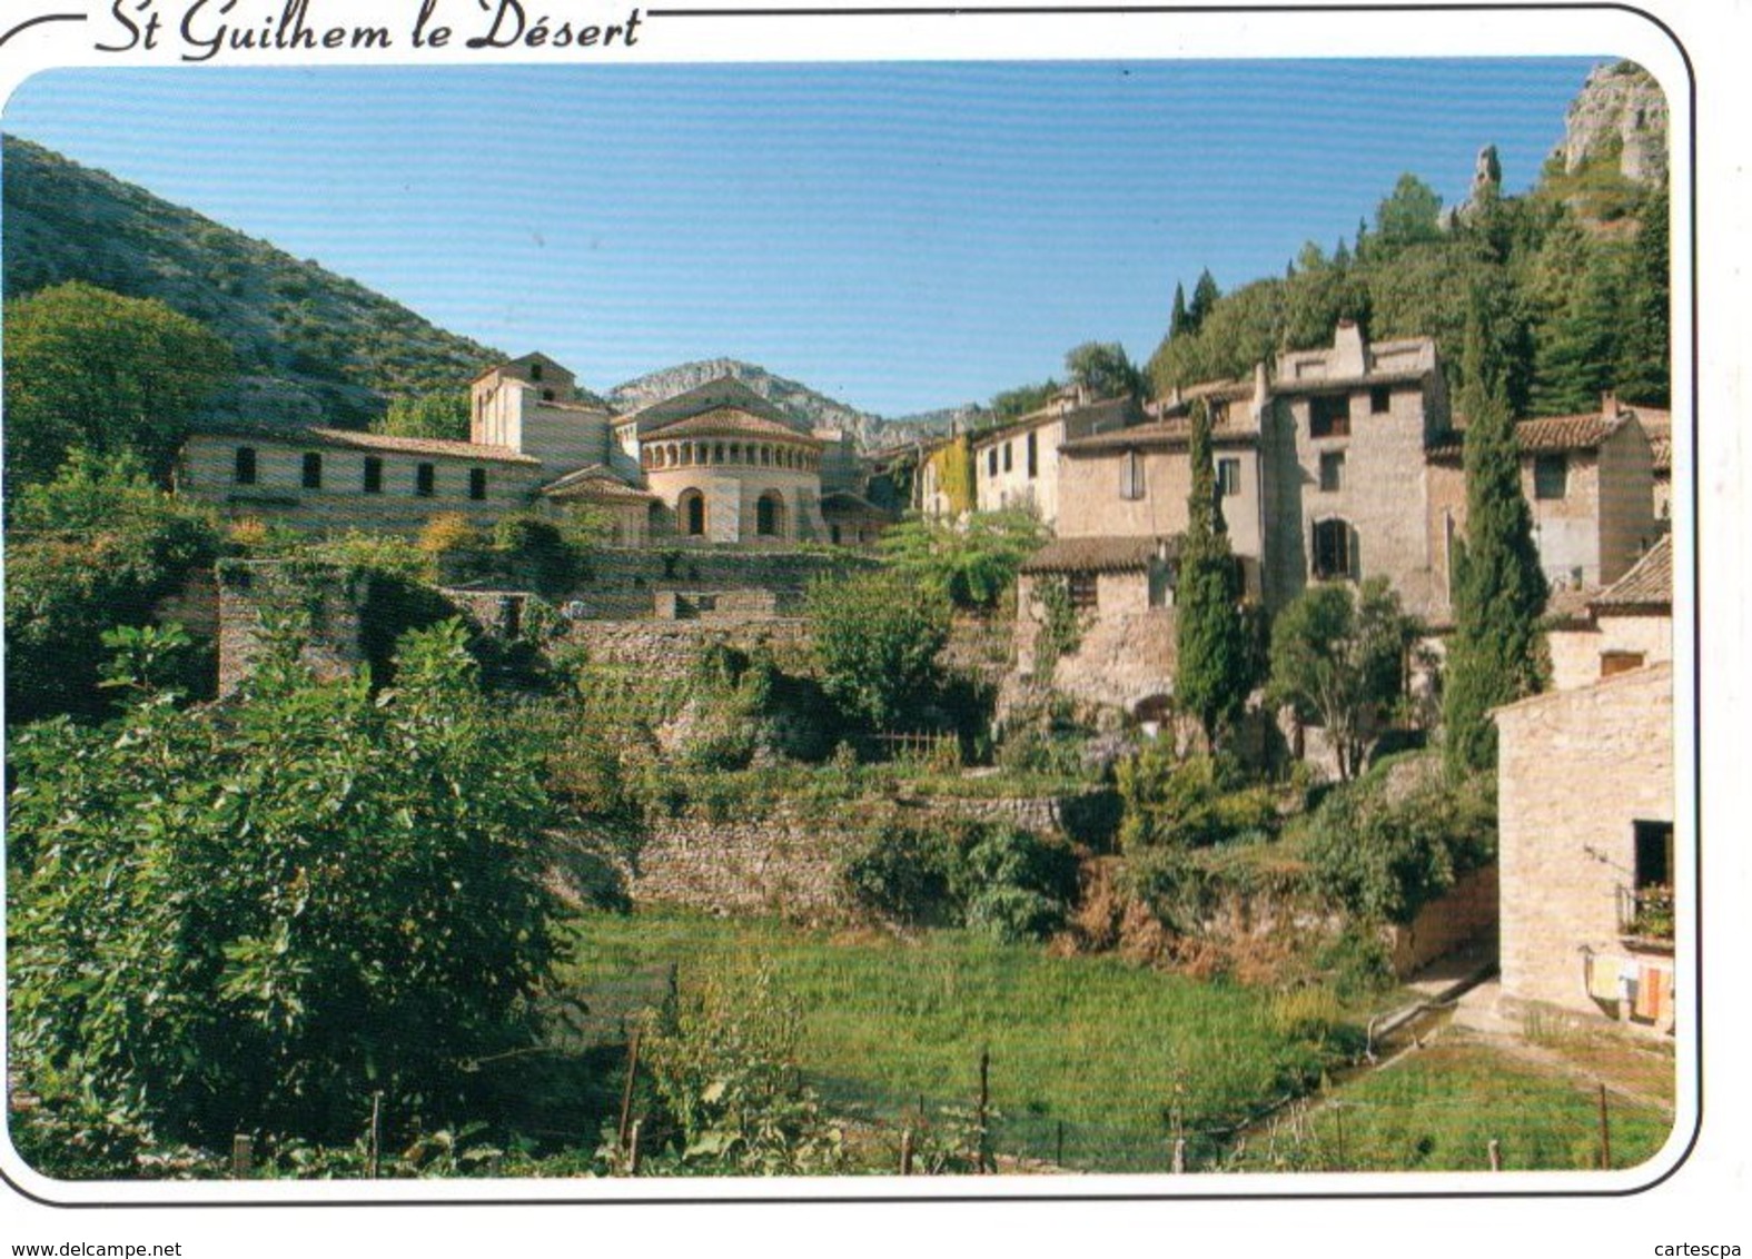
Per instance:
[[[1321,888],[1353,914],[1409,925],[1454,881],[1496,858],[1489,776],[1458,783],[1428,774],[1409,790],[1393,777],[1333,791],[1309,826]]]

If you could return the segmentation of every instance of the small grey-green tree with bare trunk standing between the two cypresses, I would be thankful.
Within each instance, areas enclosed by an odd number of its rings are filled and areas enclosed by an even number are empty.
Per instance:
[[[1386,578],[1316,585],[1272,625],[1270,695],[1321,725],[1339,753],[1339,777],[1356,777],[1368,744],[1405,693],[1405,658],[1421,634]]]

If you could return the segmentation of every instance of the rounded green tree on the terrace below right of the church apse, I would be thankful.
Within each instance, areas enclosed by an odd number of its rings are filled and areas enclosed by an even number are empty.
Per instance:
[[[806,606],[822,688],[841,711],[878,730],[916,720],[943,685],[948,597],[883,569],[820,580]]]

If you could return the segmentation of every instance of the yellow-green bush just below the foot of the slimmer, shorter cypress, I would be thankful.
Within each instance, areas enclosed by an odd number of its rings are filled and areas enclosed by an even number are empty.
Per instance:
[[[1148,742],[1118,767],[1121,849],[1209,848],[1249,832],[1277,830],[1267,786],[1247,786],[1226,756],[1177,758],[1167,741]]]

